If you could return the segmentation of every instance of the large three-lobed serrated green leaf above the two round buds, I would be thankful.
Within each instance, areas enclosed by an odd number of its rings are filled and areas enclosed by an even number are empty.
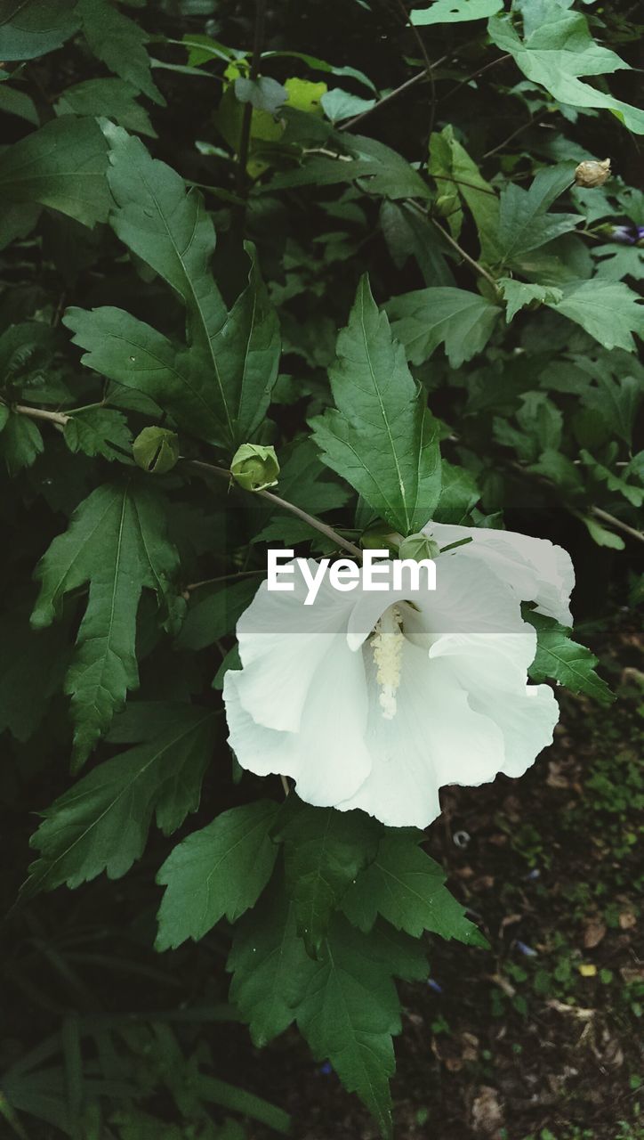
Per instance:
[[[121,309],[71,309],[64,323],[89,350],[89,367],[149,396],[187,431],[234,449],[265,415],[280,355],[276,317],[253,246],[249,284],[228,314],[210,272],[215,231],[201,196],[150,158],[139,139],[118,128],[108,133],[113,226],[183,301],[189,348]]]

